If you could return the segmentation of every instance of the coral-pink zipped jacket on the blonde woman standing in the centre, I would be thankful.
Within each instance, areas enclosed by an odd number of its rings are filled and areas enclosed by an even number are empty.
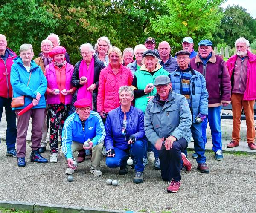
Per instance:
[[[111,64],[102,69],[99,75],[97,111],[109,112],[119,107],[118,89],[120,86],[131,86],[132,80],[131,70],[123,65],[120,65],[116,75],[112,72]]]

